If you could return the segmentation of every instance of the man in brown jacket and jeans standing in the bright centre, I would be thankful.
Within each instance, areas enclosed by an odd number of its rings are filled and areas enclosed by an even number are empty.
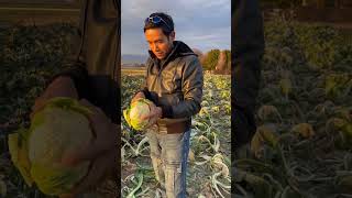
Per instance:
[[[169,15],[152,13],[145,20],[144,35],[150,45],[146,77],[132,102],[147,98],[155,103],[142,118],[152,122],[146,135],[155,176],[168,198],[183,198],[191,116],[199,112],[202,97],[202,67],[185,43],[175,41]]]

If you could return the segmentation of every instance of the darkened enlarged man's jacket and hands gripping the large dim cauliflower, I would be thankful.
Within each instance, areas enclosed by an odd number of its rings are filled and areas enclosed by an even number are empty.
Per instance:
[[[95,188],[107,174],[120,173],[117,158],[120,155],[117,146],[120,145],[117,131],[120,125],[120,0],[85,0],[80,11],[77,54],[65,65],[66,69],[50,81],[32,108],[33,114],[53,97],[70,97],[95,112],[90,117],[95,141],[62,160],[67,166],[85,160],[92,162],[88,175],[70,191],[70,197]],[[114,177],[118,180],[118,176]],[[119,188],[116,191],[119,193]]]

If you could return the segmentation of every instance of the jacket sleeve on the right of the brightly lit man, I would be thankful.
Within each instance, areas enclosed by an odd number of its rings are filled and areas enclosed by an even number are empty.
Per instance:
[[[196,56],[186,63],[182,84],[184,100],[176,106],[162,107],[164,118],[186,118],[199,112],[201,108],[204,75],[202,67]]]

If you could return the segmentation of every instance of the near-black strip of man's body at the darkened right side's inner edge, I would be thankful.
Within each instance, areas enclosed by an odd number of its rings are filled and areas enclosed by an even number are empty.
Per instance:
[[[232,7],[233,154],[245,157],[248,143],[256,130],[254,110],[264,53],[264,30],[257,0],[237,0]]]

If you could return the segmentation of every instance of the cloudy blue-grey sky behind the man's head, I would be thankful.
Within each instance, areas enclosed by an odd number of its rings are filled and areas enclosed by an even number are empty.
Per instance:
[[[231,0],[122,0],[121,3],[122,55],[147,55],[143,25],[153,12],[169,14],[176,40],[191,48],[204,53],[212,48],[230,50]]]

